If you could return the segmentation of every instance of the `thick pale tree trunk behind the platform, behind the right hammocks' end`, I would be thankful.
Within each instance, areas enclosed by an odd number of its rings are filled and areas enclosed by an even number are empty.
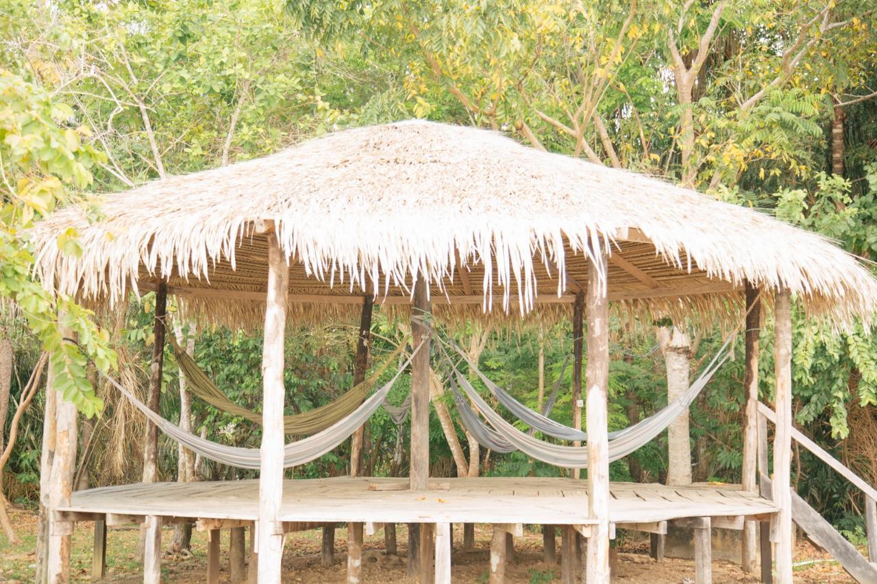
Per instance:
[[[688,390],[691,367],[691,342],[678,327],[660,327],[661,351],[667,365],[667,402],[672,402]],[[667,428],[667,484],[691,484],[691,439],[688,431],[688,411],[677,417]]]

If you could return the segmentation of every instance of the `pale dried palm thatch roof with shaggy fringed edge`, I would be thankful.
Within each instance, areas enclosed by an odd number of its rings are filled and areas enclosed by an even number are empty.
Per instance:
[[[101,196],[99,211],[89,220],[77,204],[34,228],[46,286],[111,305],[164,280],[232,324],[261,310],[271,230],[289,258],[294,317],[355,307],[365,290],[407,304],[421,277],[437,307],[557,308],[585,285],[588,257],[610,301],[632,310],[735,313],[745,281],[790,288],[841,326],[877,307],[872,274],[814,233],[496,132],[425,121],[150,182]],[[70,228],[81,257],[59,249]]]

